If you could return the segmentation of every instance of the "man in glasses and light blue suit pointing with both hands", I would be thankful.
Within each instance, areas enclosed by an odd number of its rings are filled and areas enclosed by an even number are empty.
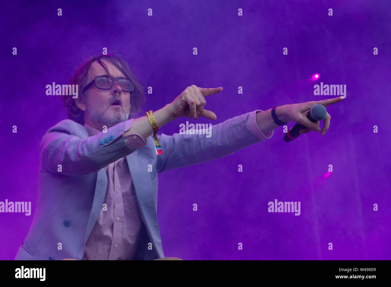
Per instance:
[[[16,260],[156,260],[165,258],[158,218],[157,173],[220,159],[269,139],[277,123],[295,121],[319,128],[306,118],[312,105],[342,98],[256,110],[213,125],[202,134],[158,135],[147,115],[131,118],[145,101],[142,86],[117,55],[99,55],[75,71],[70,84],[78,98],[64,96],[68,117],[43,136],[39,196],[32,226]],[[216,119],[205,96],[222,88],[187,87],[153,112],[161,128],[185,116]],[[330,125],[327,114],[324,134]],[[168,259],[168,258],[166,258]],[[175,258],[173,258],[175,259]],[[179,259],[179,258],[176,258]]]

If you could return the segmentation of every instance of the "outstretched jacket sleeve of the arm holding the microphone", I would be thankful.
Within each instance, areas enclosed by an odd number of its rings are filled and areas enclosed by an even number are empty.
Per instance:
[[[210,137],[206,136],[205,129],[198,134],[161,134],[158,138],[163,153],[157,156],[158,172],[221,159],[251,144],[271,138],[273,131],[266,135],[259,129],[257,135],[251,132],[248,123],[255,121],[256,111],[213,125],[209,128]],[[251,124],[254,125],[253,122]]]

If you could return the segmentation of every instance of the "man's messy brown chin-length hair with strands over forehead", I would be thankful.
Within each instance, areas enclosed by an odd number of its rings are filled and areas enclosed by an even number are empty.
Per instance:
[[[144,89],[143,86],[136,80],[135,75],[131,72],[129,69],[129,66],[127,62],[122,59],[122,56],[119,54],[108,54],[108,55],[95,55],[91,57],[90,59],[86,60],[77,70],[73,73],[72,77],[70,78],[68,84],[70,85],[79,85],[78,91],[81,101],[84,102],[86,91],[82,92],[84,87],[88,85],[87,78],[88,78],[88,70],[90,70],[91,64],[94,61],[98,61],[98,63],[106,70],[107,75],[110,75],[106,64],[102,62],[102,60],[106,60],[108,62],[111,62],[114,66],[120,70],[126,78],[129,78],[134,85],[134,90],[131,93],[130,96],[130,112],[129,112],[129,118],[131,119],[135,114],[140,112],[141,106],[145,104],[145,95],[144,95]],[[72,95],[66,95],[63,96],[63,107],[65,109],[68,109],[68,118],[72,119],[73,121],[84,125],[84,111],[79,109],[77,107],[76,99],[72,97]]]

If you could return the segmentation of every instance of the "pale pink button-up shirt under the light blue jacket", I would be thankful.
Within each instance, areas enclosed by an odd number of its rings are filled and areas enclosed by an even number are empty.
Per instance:
[[[265,135],[260,131],[256,124],[256,112],[262,111],[250,112],[247,126],[258,140],[264,140],[265,137],[269,139],[273,135],[273,130]],[[132,122],[133,119],[126,121],[125,131],[131,128]],[[89,136],[100,133],[87,123],[84,127]],[[147,144],[147,141],[138,134],[122,137],[124,143],[134,150]],[[100,210],[94,228],[87,239],[81,260],[133,260],[142,219],[126,157],[109,164],[105,170],[108,185],[103,202],[107,205],[107,210],[105,206]]]

